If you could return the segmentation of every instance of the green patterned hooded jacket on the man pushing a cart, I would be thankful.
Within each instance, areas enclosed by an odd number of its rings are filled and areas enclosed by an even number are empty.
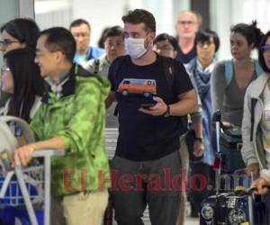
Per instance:
[[[60,94],[49,92],[31,121],[37,140],[61,137],[63,157],[51,160],[51,192],[64,195],[110,187],[105,152],[104,100],[110,83],[82,67],[73,67]]]

